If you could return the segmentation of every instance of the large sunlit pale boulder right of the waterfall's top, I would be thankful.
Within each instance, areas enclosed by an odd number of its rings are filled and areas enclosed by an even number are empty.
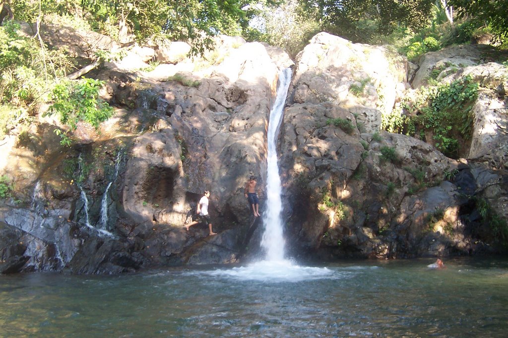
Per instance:
[[[390,48],[353,44],[324,32],[297,58],[294,102],[334,102],[370,132],[379,129],[382,114],[392,110],[407,81],[407,60]]]

